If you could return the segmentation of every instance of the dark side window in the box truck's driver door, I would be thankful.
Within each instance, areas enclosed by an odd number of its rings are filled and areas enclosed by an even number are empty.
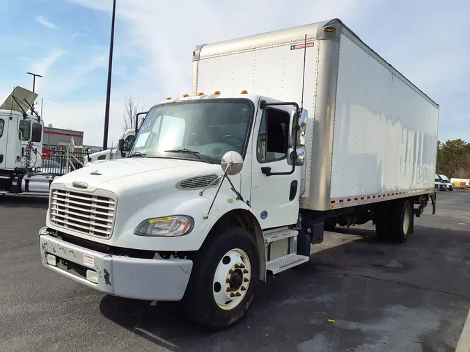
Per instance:
[[[260,124],[256,154],[260,163],[287,157],[289,114],[285,111],[266,109]]]

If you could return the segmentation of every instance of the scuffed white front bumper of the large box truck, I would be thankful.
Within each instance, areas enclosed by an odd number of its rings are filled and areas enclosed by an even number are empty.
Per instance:
[[[39,242],[42,264],[47,268],[120,297],[179,301],[193,266],[189,259],[141,259],[100,253],[53,237],[46,227],[39,232]],[[58,265],[47,263],[48,254],[56,257]],[[87,280],[87,270],[97,273],[97,283]]]

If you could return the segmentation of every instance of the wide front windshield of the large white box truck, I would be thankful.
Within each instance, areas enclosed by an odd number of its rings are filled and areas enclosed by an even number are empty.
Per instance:
[[[130,155],[197,159],[211,162],[233,150],[243,154],[253,104],[247,99],[175,102],[154,106],[143,121]],[[185,150],[181,154],[170,150]]]

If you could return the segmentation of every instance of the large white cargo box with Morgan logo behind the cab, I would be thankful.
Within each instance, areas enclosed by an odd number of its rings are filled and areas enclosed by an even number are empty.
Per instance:
[[[434,190],[439,105],[339,19],[196,47],[192,93],[214,90],[303,98],[304,209]]]

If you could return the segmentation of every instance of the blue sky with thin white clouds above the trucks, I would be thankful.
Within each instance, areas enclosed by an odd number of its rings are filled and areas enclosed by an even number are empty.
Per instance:
[[[441,105],[439,139],[470,141],[470,2],[117,0],[109,145],[123,102],[149,108],[191,90],[196,45],[338,17]],[[0,97],[43,74],[45,124],[100,145],[111,0],[15,0],[0,13]],[[4,53],[4,54],[3,54]]]

